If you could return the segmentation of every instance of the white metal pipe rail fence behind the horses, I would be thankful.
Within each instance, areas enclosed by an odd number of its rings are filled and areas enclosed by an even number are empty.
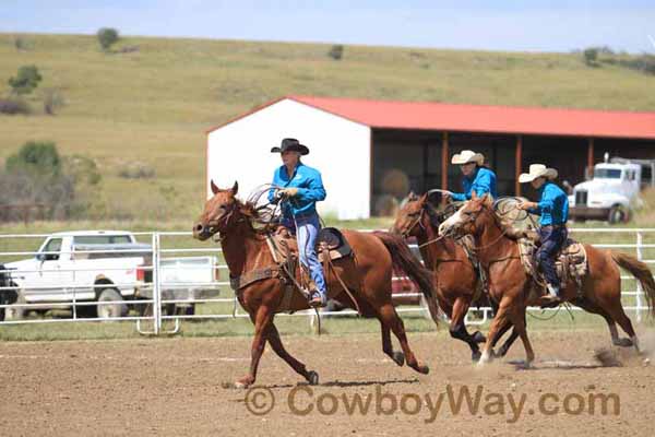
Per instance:
[[[644,243],[644,237],[645,236],[651,236],[653,237],[653,240],[655,240],[655,228],[609,228],[609,227],[602,227],[602,228],[571,228],[570,229],[571,234],[577,234],[581,235],[581,237],[583,238],[585,234],[598,234],[598,235],[626,235],[628,238],[632,237],[634,238],[633,241],[634,243],[598,243],[598,244],[594,244],[596,247],[598,248],[608,248],[608,249],[631,249],[635,251],[635,256],[638,259],[648,263],[648,264],[653,264],[655,263],[655,259],[645,259],[644,256],[644,251],[646,250],[652,250],[655,249],[655,244],[651,243]],[[164,320],[174,320],[175,321],[175,328],[172,332],[177,332],[179,330],[180,327],[180,322],[182,320],[190,320],[190,319],[198,319],[198,320],[206,320],[206,319],[237,319],[237,318],[245,318],[248,317],[248,315],[246,312],[243,312],[242,310],[240,310],[240,307],[238,305],[237,298],[234,295],[234,293],[231,293],[231,291],[228,292],[228,297],[212,297],[212,298],[206,298],[206,297],[191,297],[191,298],[176,298],[174,297],[167,297],[165,296],[165,292],[166,291],[170,291],[170,290],[187,290],[189,287],[201,287],[201,288],[218,288],[218,290],[228,290],[229,286],[229,282],[228,281],[221,281],[221,273],[219,272],[225,272],[227,270],[227,265],[225,265],[224,263],[217,263],[215,265],[213,265],[212,268],[216,271],[217,274],[213,275],[214,280],[211,282],[183,282],[183,281],[178,281],[175,283],[171,282],[166,282],[163,280],[163,273],[166,272],[167,269],[172,269],[171,267],[167,267],[167,265],[162,265],[162,261],[165,260],[166,258],[163,258],[164,256],[170,256],[171,253],[212,253],[212,255],[222,255],[222,249],[221,248],[216,248],[216,247],[206,247],[206,248],[199,248],[199,247],[172,247],[172,248],[166,248],[163,247],[162,245],[162,239],[163,238],[170,238],[170,237],[190,237],[191,233],[189,232],[157,232],[157,231],[153,231],[153,232],[139,232],[139,233],[132,233],[133,235],[140,237],[140,239],[144,239],[144,238],[148,238],[150,244],[151,244],[151,248],[150,249],[109,249],[109,250],[102,250],[102,252],[112,252],[112,253],[126,253],[129,256],[138,256],[139,253],[144,253],[147,252],[151,255],[151,260],[148,264],[143,264],[140,265],[141,269],[147,270],[150,272],[152,272],[152,280],[151,281],[134,281],[134,282],[123,282],[123,283],[111,283],[111,287],[116,287],[118,290],[127,290],[127,288],[134,288],[134,291],[141,291],[141,292],[147,292],[148,297],[147,298],[140,298],[138,300],[103,300],[103,302],[96,302],[96,300],[90,300],[88,298],[84,298],[81,299],[80,298],[80,290],[92,290],[95,291],[97,288],[107,288],[108,284],[107,283],[90,283],[90,284],[75,284],[75,283],[70,283],[70,282],[62,282],[62,283],[50,283],[47,285],[37,285],[37,286],[32,286],[31,287],[31,292],[46,292],[46,291],[51,291],[51,290],[59,290],[60,291],[60,296],[58,299],[53,299],[53,302],[43,302],[43,300],[38,300],[38,293],[35,294],[35,296],[32,296],[31,299],[17,299],[14,302],[8,300],[7,296],[10,296],[10,294],[14,294],[15,297],[20,296],[23,291],[21,290],[16,290],[15,286],[12,286],[12,284],[2,284],[2,282],[0,281],[0,326],[2,324],[33,324],[33,323],[57,323],[57,322],[84,322],[84,321],[135,321],[136,323],[136,329],[139,330],[139,332],[142,333],[151,333],[151,334],[159,334],[163,332],[163,321]],[[10,240],[10,239],[20,239],[20,240],[24,240],[24,239],[34,239],[34,238],[45,238],[45,237],[49,237],[49,234],[4,234],[1,235],[0,234],[0,245],[2,245],[4,241]],[[585,243],[590,243],[590,241],[585,241]],[[3,246],[0,246],[3,247]],[[414,248],[416,249],[416,246],[414,246]],[[93,253],[93,250],[83,250],[83,251],[73,251],[73,252],[66,252],[66,253]],[[95,251],[97,252],[97,251]],[[45,253],[45,252],[37,252],[37,251],[26,251],[26,250],[7,250],[7,251],[0,251],[0,265],[5,263],[3,262],[4,259],[7,258],[15,258],[15,257],[36,257],[36,255],[38,253]],[[63,253],[63,252],[50,252],[50,253]],[[655,251],[653,251],[653,253],[655,253]],[[102,260],[100,260],[102,261]],[[193,265],[176,265],[175,269],[177,270],[193,270],[193,269],[200,269],[198,267],[193,267]],[[88,271],[95,271],[97,269],[93,269],[93,268],[70,268],[70,269],[59,269],[56,270],[59,273],[72,273],[73,275],[75,273],[82,273],[82,272],[88,272]],[[112,270],[121,270],[121,268],[106,268],[103,269],[106,272],[110,272]],[[26,273],[44,273],[44,272],[50,272],[50,270],[44,271],[44,270],[31,270],[31,269],[25,269],[25,270],[14,270],[14,269],[1,269],[0,268],[0,280],[2,279],[2,275],[19,275],[19,274],[26,274]],[[398,281],[401,279],[398,277],[394,277],[394,281]],[[622,281],[633,281],[632,276],[628,276],[628,275],[622,275],[621,276]],[[633,304],[629,304],[629,305],[624,305],[624,308],[628,311],[634,311],[634,317],[636,319],[638,322],[640,322],[642,320],[642,314],[644,311],[647,310],[647,307],[644,305],[644,298],[643,298],[643,291],[641,290],[641,285],[639,284],[639,282],[636,283],[636,290],[624,290],[622,292],[622,296],[627,296],[627,297],[631,297],[633,298]],[[623,288],[626,288],[626,286],[623,286]],[[128,297],[128,298],[132,298],[131,296],[132,294],[128,294],[127,296],[123,295],[123,297]],[[152,296],[151,296],[152,295]],[[395,297],[416,297],[419,298],[421,295],[420,293],[415,293],[415,292],[410,292],[410,293],[396,293],[394,294]],[[27,302],[27,300],[32,300],[32,302]],[[130,316],[128,315],[127,317],[121,317],[121,318],[110,318],[110,317],[100,317],[100,318],[83,318],[80,317],[79,312],[82,309],[88,308],[88,307],[95,307],[95,308],[102,308],[103,306],[108,306],[108,305],[139,305],[139,306],[148,306],[150,311],[146,312],[141,312],[138,316]],[[222,310],[215,309],[213,312],[211,314],[195,314],[193,311],[190,311],[188,314],[164,314],[163,312],[163,308],[166,307],[170,307],[170,306],[179,306],[179,305],[187,305],[187,306],[191,306],[194,307],[195,305],[222,305]],[[37,318],[37,319],[12,319],[12,320],[4,320],[4,316],[9,315],[10,311],[16,311],[16,310],[22,310],[22,311],[31,311],[31,310],[44,310],[44,309],[68,309],[71,311],[70,317],[61,317],[61,318]],[[580,308],[574,308],[575,310],[579,310]],[[481,319],[477,319],[477,320],[473,320],[472,318],[468,317],[467,315],[467,323],[468,324],[481,324],[484,322],[486,322],[489,319],[489,315],[491,311],[491,308],[488,307],[484,307],[484,308],[479,308],[479,310],[483,312],[483,317]],[[538,310],[538,311],[543,311],[543,309],[540,308],[528,308],[529,311],[534,311],[534,310]],[[555,309],[550,309],[550,310],[555,310]],[[412,306],[402,306],[400,308],[397,308],[397,311],[401,314],[420,314],[420,315],[426,315],[428,314],[428,310],[425,306],[422,305],[412,305]],[[322,316],[338,316],[338,317],[343,317],[343,316],[350,316],[350,315],[356,315],[356,311],[354,310],[343,310],[343,311],[322,311],[321,312],[321,317]],[[313,323],[315,314],[313,310],[305,310],[305,311],[298,311],[295,312],[293,315],[286,315],[286,314],[282,314],[281,316],[284,317],[306,317],[309,319],[310,323]],[[144,322],[147,322],[148,324],[152,326],[152,330],[146,331],[144,329],[142,329],[142,326]]]

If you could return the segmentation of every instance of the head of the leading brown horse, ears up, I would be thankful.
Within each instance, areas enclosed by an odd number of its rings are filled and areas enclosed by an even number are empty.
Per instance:
[[[193,225],[193,238],[204,241],[214,234],[225,234],[242,217],[241,202],[236,198],[238,182],[228,189],[218,188],[211,181],[214,196],[205,202],[204,210]]]

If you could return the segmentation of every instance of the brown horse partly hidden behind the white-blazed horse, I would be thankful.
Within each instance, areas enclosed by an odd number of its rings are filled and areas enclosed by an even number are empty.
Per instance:
[[[480,280],[464,248],[452,238],[440,238],[441,216],[428,201],[428,194],[410,193],[391,228],[404,238],[416,237],[425,265],[432,271],[434,297],[449,317],[450,334],[468,344],[473,361],[480,357],[478,343],[486,341],[480,331],[466,330],[464,317],[473,304]],[[483,297],[483,296],[479,296]]]

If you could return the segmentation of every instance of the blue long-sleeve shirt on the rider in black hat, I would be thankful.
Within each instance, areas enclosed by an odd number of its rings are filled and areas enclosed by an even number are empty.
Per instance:
[[[315,212],[317,202],[325,199],[325,188],[321,173],[315,168],[298,163],[291,177],[284,165],[275,169],[273,185],[277,188],[297,188],[298,193],[282,204],[282,214],[291,220],[296,216],[309,215]],[[275,191],[269,191],[269,201],[274,200]]]

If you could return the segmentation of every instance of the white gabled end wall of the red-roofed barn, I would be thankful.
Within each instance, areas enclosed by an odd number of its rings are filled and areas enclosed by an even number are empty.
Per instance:
[[[341,220],[367,218],[370,135],[368,126],[283,99],[209,133],[207,193],[210,179],[221,188],[238,180],[241,199],[270,184],[274,169],[282,165],[271,147],[279,145],[283,138],[297,138],[310,149],[302,162],[323,176],[327,197],[318,203],[319,212]]]

